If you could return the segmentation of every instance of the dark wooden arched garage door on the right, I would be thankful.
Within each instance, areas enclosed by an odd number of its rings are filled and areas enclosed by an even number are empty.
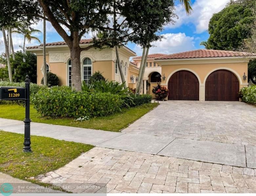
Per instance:
[[[205,82],[205,101],[239,101],[239,81],[228,70],[211,73]]]

